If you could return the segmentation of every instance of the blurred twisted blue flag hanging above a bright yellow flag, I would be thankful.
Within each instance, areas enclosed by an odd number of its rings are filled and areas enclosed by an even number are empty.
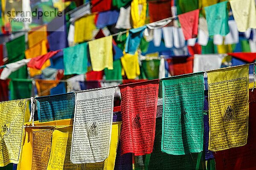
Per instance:
[[[125,53],[134,54],[137,51],[145,28],[146,26],[142,26],[129,30],[129,35],[125,42]]]

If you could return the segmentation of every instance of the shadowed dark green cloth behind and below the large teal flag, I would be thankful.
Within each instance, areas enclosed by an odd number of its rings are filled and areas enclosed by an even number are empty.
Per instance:
[[[145,169],[148,170],[205,170],[201,153],[186,155],[169,155],[161,152],[162,118],[156,119],[154,147],[151,154],[146,155]],[[149,158],[148,158],[149,157]],[[149,159],[149,161],[147,160]],[[148,161],[148,162],[147,162]]]

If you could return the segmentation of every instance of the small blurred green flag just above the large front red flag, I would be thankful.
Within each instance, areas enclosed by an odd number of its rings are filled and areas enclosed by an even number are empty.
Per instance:
[[[142,68],[146,79],[158,79],[159,77],[159,59],[142,60]]]

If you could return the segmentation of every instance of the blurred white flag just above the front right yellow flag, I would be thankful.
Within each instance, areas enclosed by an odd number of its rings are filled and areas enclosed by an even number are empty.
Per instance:
[[[195,54],[193,72],[221,68],[223,58],[224,54]]]

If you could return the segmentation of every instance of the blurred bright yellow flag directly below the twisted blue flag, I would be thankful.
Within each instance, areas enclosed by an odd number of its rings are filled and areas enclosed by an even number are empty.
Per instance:
[[[140,75],[140,65],[138,53],[124,54],[121,58],[122,62],[122,76],[126,74],[128,79],[135,79]]]

